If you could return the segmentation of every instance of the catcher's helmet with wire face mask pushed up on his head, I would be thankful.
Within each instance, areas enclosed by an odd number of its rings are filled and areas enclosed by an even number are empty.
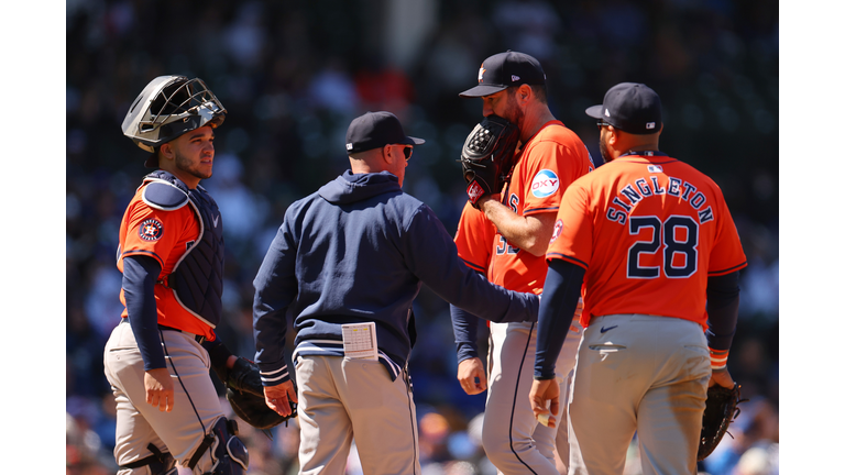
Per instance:
[[[200,78],[158,76],[150,81],[132,102],[123,119],[123,135],[141,148],[155,150],[185,132],[204,125],[219,126],[226,119],[226,108]],[[158,156],[144,163],[158,166]]]

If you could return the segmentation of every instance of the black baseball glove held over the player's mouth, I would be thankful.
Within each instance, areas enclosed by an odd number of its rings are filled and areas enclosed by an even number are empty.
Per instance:
[[[487,115],[467,136],[461,167],[467,195],[473,207],[485,195],[494,195],[511,179],[519,129],[498,115]]]

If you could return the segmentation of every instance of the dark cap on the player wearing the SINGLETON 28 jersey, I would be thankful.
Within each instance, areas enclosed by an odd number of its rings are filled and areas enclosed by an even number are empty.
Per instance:
[[[604,103],[586,109],[586,114],[638,135],[658,133],[663,123],[660,97],[650,87],[637,82],[622,82],[610,88],[604,95]]]

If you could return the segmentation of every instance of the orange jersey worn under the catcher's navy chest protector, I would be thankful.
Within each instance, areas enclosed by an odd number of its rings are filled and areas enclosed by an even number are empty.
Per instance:
[[[173,211],[163,211],[147,205],[142,197],[144,186],[135,191],[120,223],[118,269],[123,272],[124,256],[150,256],[162,266],[156,278],[158,280],[173,272],[188,247],[199,238],[200,228],[189,205]],[[156,284],[154,291],[158,323],[215,340],[211,328],[182,307],[172,289]],[[120,290],[120,301],[123,303],[122,317],[127,317],[123,289]]]

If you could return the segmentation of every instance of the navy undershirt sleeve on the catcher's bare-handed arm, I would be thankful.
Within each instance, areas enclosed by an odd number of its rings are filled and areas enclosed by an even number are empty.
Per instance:
[[[127,299],[129,324],[144,360],[144,371],[167,367],[158,335],[154,294],[155,279],[161,272],[162,266],[153,257],[123,257],[123,296]]]

